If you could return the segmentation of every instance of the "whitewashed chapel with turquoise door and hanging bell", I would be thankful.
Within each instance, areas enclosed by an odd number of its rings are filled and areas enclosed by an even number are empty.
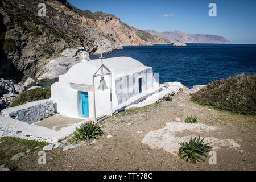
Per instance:
[[[131,57],[82,60],[51,86],[56,111],[94,119],[143,100],[159,89],[151,67]]]

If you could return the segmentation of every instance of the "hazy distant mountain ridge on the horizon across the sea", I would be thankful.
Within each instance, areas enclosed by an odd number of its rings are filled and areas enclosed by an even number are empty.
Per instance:
[[[209,34],[188,34],[177,30],[157,32],[155,30],[144,30],[152,35],[159,36],[161,38],[174,42],[178,40],[185,43],[216,43],[216,44],[229,44],[229,40],[226,40],[222,36],[209,35]]]

